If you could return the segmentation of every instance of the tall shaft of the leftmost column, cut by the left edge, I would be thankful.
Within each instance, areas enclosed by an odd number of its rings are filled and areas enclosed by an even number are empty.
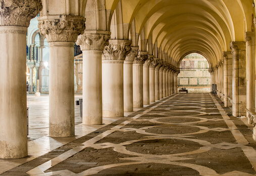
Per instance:
[[[25,74],[27,28],[0,26],[0,31],[3,31],[0,32],[0,158],[20,158],[28,154]]]

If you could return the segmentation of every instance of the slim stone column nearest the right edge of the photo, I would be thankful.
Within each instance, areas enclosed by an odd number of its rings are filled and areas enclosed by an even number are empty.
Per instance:
[[[246,81],[246,109],[252,109],[254,108],[254,94],[253,94],[253,88],[254,88],[254,32],[246,32],[245,33],[245,41],[247,45],[247,81]],[[246,117],[248,117],[248,113],[246,113]],[[248,118],[248,120],[250,120]],[[249,122],[251,123],[251,122]]]

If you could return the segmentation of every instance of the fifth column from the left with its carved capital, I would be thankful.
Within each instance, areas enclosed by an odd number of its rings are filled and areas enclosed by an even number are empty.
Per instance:
[[[133,61],[137,55],[138,47],[131,47],[124,61],[124,112],[133,111]]]

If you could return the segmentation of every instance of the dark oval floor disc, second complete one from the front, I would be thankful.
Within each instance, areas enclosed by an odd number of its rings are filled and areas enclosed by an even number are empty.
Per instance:
[[[190,126],[179,126],[179,125],[170,125],[170,126],[161,126],[153,127],[145,130],[147,133],[151,134],[187,134],[195,133],[200,131],[200,128],[190,127]]]

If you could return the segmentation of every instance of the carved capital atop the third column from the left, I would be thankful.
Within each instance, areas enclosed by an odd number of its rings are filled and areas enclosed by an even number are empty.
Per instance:
[[[85,30],[84,34],[78,36],[76,44],[80,45],[84,50],[104,50],[104,47],[109,45],[109,31],[91,31]]]

